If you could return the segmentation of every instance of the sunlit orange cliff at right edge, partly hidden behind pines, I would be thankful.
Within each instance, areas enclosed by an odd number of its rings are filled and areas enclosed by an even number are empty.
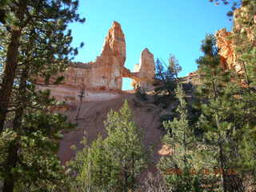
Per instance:
[[[246,19],[248,15],[246,7],[241,7],[238,10],[234,11],[234,27],[233,30],[230,32],[226,29],[218,30],[215,34],[217,38],[217,45],[219,48],[219,55],[221,56],[221,64],[226,70],[234,69],[238,74],[243,73],[243,66],[242,63],[239,62],[239,58],[241,57],[241,54],[239,54],[237,51],[235,51],[235,43],[234,40],[232,40],[232,35],[234,35],[234,31],[236,33],[243,33],[246,31],[246,36],[249,39],[250,42],[254,46],[256,46],[256,34],[254,34],[254,25],[251,25],[251,27],[242,26],[239,24],[239,20]],[[256,24],[256,15],[254,15],[254,19],[251,21]]]

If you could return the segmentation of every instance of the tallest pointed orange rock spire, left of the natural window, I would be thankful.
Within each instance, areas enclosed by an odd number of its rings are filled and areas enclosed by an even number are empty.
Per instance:
[[[106,36],[102,54],[90,62],[90,82],[86,86],[100,90],[122,90],[122,68],[126,62],[125,35],[118,22],[114,22]]]

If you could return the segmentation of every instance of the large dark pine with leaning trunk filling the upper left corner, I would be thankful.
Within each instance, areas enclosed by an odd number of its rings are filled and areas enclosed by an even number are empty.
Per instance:
[[[0,133],[10,107],[15,78],[20,68],[25,66],[20,60],[26,57],[22,62],[30,62],[28,66],[29,69],[33,66],[34,77],[43,74],[43,77],[50,78],[54,72],[64,70],[68,62],[67,55],[73,52],[70,32],[65,34],[66,25],[68,22],[83,22],[76,13],[78,1],[9,0],[3,4],[5,23],[0,30],[3,66],[0,81]]]

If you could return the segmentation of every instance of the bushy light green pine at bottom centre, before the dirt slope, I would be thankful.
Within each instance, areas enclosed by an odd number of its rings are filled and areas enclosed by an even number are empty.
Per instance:
[[[74,161],[82,162],[78,166],[80,189],[134,191],[138,175],[147,166],[147,151],[127,101],[118,112],[110,111],[105,126],[106,139],[99,137],[82,151],[82,156],[78,153],[80,160]]]

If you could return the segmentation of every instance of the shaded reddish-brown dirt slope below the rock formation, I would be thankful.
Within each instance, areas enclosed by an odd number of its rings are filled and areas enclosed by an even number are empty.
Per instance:
[[[88,142],[92,142],[97,138],[98,134],[102,134],[103,137],[106,136],[106,130],[103,126],[106,114],[110,109],[120,109],[125,99],[127,99],[130,108],[133,110],[134,121],[137,126],[144,131],[143,143],[146,147],[149,147],[151,143],[154,144],[154,153],[151,157],[154,165],[158,162],[158,158],[160,157],[158,150],[162,148],[162,131],[159,130],[159,114],[161,111],[150,102],[140,102],[135,98],[134,94],[126,92],[123,93],[120,98],[115,98],[110,101],[82,103],[77,129],[64,134],[64,138],[60,142],[58,156],[61,158],[62,163],[74,157],[74,151],[70,150],[70,146],[76,145],[81,147],[79,142],[82,140],[83,136],[86,136]],[[138,101],[137,105],[134,104],[134,99]],[[77,109],[68,110],[65,114],[69,117],[70,121],[76,122],[74,119],[78,114]],[[151,172],[154,174],[156,171],[154,165],[150,166],[150,168],[146,170],[146,173]]]

